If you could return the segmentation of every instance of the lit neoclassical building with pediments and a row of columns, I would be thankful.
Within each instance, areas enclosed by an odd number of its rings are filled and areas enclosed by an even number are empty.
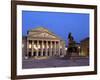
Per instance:
[[[65,42],[54,33],[43,27],[29,30],[23,37],[23,53],[28,57],[62,57],[66,55]]]

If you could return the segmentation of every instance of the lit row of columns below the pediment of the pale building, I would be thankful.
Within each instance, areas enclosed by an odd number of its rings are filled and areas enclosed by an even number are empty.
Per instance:
[[[60,55],[60,41],[27,40],[28,53],[31,53],[31,56]]]

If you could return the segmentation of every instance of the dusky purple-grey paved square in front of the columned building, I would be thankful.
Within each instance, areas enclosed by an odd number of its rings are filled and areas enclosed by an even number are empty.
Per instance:
[[[70,66],[88,66],[89,58],[78,57],[67,58],[48,58],[48,59],[23,59],[22,68],[51,68],[51,67],[70,67]]]

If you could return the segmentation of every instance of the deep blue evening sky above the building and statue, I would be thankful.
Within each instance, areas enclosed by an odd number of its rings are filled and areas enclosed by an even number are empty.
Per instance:
[[[22,35],[37,27],[44,27],[67,41],[71,32],[76,42],[89,37],[89,14],[22,11]]]

